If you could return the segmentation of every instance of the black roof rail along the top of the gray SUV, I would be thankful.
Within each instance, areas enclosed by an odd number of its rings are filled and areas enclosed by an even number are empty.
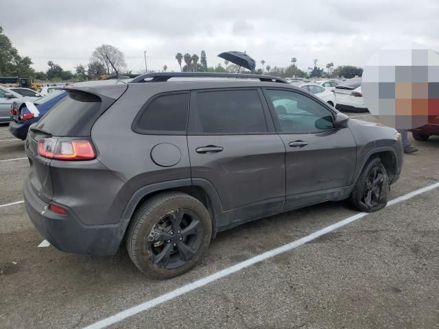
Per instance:
[[[136,82],[165,82],[171,77],[236,77],[247,79],[259,79],[261,82],[281,82],[287,84],[286,80],[281,77],[272,77],[271,75],[243,74],[243,73],[211,73],[211,72],[159,72],[145,73],[134,77],[131,84]],[[147,80],[146,80],[147,79]]]

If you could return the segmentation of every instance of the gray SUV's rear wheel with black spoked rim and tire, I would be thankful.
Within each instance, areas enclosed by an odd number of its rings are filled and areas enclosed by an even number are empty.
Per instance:
[[[211,236],[211,217],[206,207],[190,195],[169,192],[147,199],[134,212],[126,245],[138,269],[164,280],[197,265]]]

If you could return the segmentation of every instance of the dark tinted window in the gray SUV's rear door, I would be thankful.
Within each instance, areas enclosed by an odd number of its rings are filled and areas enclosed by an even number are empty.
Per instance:
[[[249,134],[268,131],[257,90],[198,92],[193,110],[191,131],[195,133]]]

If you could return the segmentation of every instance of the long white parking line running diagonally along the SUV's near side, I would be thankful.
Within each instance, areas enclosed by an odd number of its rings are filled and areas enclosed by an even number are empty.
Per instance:
[[[411,193],[407,193],[406,195],[403,195],[402,197],[397,197],[396,199],[393,199],[392,201],[388,202],[387,206],[392,206],[394,204],[397,204],[398,202],[405,201],[407,199],[415,197],[416,195],[420,195],[421,193],[430,191],[430,190],[432,190],[434,188],[438,188],[438,187],[439,187],[439,182],[437,182],[436,184],[425,186],[425,187],[420,188],[420,189],[413,191]],[[205,286],[206,284],[209,284],[211,282],[214,282],[216,280],[219,280],[221,278],[229,276],[232,273],[235,273],[237,271],[241,271],[241,269],[245,269],[246,267],[249,267],[250,265],[254,265],[254,264],[259,263],[263,260],[267,260],[268,258],[272,258],[278,254],[283,254],[284,252],[289,252],[290,250],[295,249],[296,247],[299,247],[300,245],[303,245],[309,241],[317,239],[319,236],[322,236],[323,234],[327,234],[329,232],[332,232],[333,230],[336,230],[337,228],[341,228],[342,226],[345,226],[348,223],[352,223],[353,221],[356,221],[357,219],[361,219],[368,214],[369,214],[369,212],[359,212],[357,215],[353,215],[351,217],[343,219],[342,221],[338,221],[337,223],[334,223],[330,226],[327,226],[326,228],[322,228],[322,230],[318,230],[318,231],[313,232],[313,233],[311,233],[311,234],[309,234],[301,239],[298,239],[296,241],[288,243],[287,245],[283,245],[282,247],[272,249],[272,250],[270,250],[268,252],[264,252],[263,254],[260,254],[258,256],[254,256],[253,258],[250,258],[248,260],[244,260],[244,262],[238,263],[237,265],[233,265],[231,267],[227,267],[226,269],[223,269],[222,271],[213,273],[210,276],[206,276],[205,278],[202,278],[200,280],[196,280],[194,282],[186,284],[183,287],[175,289],[169,293],[165,293],[165,295],[158,296],[158,297],[154,298],[153,300],[149,300],[147,302],[143,302],[142,304],[139,304],[139,305],[134,306],[132,308],[128,308],[126,310],[123,310],[120,313],[112,315],[111,317],[107,317],[106,319],[102,319],[100,321],[97,321],[94,324],[91,324],[90,326],[84,327],[83,329],[102,329],[102,328],[106,328],[107,326],[110,326],[112,324],[116,324],[117,322],[119,322],[123,319],[126,319],[128,317],[132,317],[133,315],[141,313],[145,310],[149,310],[150,308],[153,308],[154,306],[157,306],[159,304],[167,302],[168,300],[173,300],[174,298],[176,298],[180,295],[183,295],[185,293],[189,293],[189,291],[193,291],[197,288]]]

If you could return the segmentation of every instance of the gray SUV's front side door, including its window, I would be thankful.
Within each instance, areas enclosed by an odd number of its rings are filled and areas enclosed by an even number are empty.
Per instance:
[[[305,93],[267,88],[264,94],[287,150],[285,208],[341,196],[355,171],[351,130],[335,128],[335,113]]]

